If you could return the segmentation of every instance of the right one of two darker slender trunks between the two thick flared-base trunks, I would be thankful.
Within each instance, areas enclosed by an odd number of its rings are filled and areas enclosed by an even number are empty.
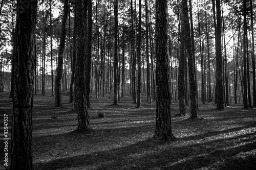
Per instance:
[[[138,57],[138,83],[137,83],[137,108],[141,107],[141,0],[139,0],[139,25],[138,25],[138,39],[137,39],[137,57]]]

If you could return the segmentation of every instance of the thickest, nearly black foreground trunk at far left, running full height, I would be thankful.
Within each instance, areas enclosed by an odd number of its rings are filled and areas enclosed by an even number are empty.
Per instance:
[[[22,7],[17,1],[17,8]],[[14,102],[10,169],[33,169],[32,108],[37,4],[17,11],[14,57]]]

